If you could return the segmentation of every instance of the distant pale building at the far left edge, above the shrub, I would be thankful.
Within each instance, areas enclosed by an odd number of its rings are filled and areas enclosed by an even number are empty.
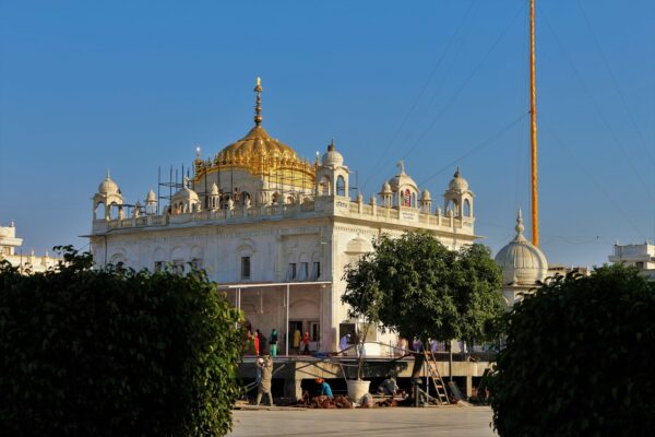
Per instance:
[[[16,226],[10,222],[9,226],[0,225],[0,261],[8,261],[13,267],[17,267],[22,273],[37,273],[57,267],[61,258],[53,258],[46,251],[43,256],[37,256],[34,250],[23,253],[21,247],[23,239],[16,237]]]

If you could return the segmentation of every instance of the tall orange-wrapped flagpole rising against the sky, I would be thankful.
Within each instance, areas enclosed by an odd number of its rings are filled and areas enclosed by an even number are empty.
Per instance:
[[[539,246],[539,194],[537,191],[537,80],[535,68],[535,0],[529,0],[529,119],[532,138],[532,243]]]

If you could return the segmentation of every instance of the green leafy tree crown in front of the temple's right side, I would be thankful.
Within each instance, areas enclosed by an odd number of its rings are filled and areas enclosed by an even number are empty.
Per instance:
[[[350,312],[406,339],[487,340],[503,311],[500,269],[489,249],[449,250],[427,232],[382,236],[346,267],[342,302]],[[414,376],[422,366],[417,355]]]

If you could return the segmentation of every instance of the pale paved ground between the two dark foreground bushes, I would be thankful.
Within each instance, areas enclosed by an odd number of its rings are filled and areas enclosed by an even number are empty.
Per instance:
[[[236,410],[230,437],[465,436],[490,437],[491,409]]]

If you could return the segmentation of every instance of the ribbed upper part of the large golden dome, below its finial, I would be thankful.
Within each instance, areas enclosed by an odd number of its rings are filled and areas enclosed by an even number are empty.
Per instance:
[[[229,144],[216,155],[219,163],[233,160],[298,160],[298,154],[288,145],[271,138],[261,126],[250,129],[250,132],[236,143]]]

